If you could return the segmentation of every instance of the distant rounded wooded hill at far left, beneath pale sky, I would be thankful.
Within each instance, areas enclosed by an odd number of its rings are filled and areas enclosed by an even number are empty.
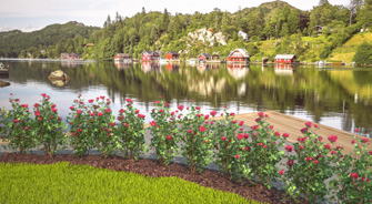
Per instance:
[[[98,29],[70,21],[66,24],[51,24],[34,32],[0,32],[0,57],[53,58],[64,50],[82,52],[84,39]]]

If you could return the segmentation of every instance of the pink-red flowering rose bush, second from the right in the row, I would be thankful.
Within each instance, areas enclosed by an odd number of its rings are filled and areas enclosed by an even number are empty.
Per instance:
[[[303,136],[298,137],[298,143],[286,146],[288,170],[282,175],[285,184],[285,193],[292,198],[303,196],[306,202],[315,203],[324,201],[329,195],[325,180],[332,176],[333,167],[328,154],[331,149],[322,143],[322,137],[316,134],[318,125],[311,122],[305,123],[302,129]],[[329,136],[333,143],[336,136]],[[290,153],[292,152],[293,154]],[[283,163],[285,165],[285,163]]]

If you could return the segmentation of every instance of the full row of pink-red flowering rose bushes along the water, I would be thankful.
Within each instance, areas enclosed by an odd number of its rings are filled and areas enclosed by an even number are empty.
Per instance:
[[[42,94],[40,103],[33,106],[33,116],[28,104],[10,99],[12,110],[0,110],[4,139],[9,147],[19,154],[42,145],[52,156],[58,145],[72,146],[77,156],[84,156],[93,147],[104,157],[119,151],[125,159],[138,160],[148,150],[144,142],[144,115],[127,99],[127,108],[117,118],[110,109],[111,101],[104,96],[88,100],[78,96],[67,119],[71,136],[63,136],[67,125],[58,116],[58,110],[50,96]],[[268,123],[269,115],[259,113],[257,125],[243,131],[243,121],[237,121],[234,113],[221,113],[223,120],[213,120],[215,111],[202,114],[200,106],[170,110],[163,100],[154,102],[150,122],[151,143],[160,164],[168,165],[181,153],[191,172],[202,172],[212,161],[223,176],[241,181],[258,177],[259,184],[271,187],[271,181],[282,180],[288,197],[303,196],[314,203],[331,196],[345,203],[371,201],[371,152],[368,139],[352,136],[354,151],[344,154],[341,146],[322,142],[316,134],[318,126],[305,123],[299,143],[285,145],[286,133],[279,133]],[[338,137],[328,136],[333,144]],[[284,147],[285,151],[280,151]],[[290,154],[294,152],[294,154]],[[277,164],[286,160],[286,169]],[[332,165],[334,164],[334,165]],[[335,174],[336,178],[325,185],[325,180]]]

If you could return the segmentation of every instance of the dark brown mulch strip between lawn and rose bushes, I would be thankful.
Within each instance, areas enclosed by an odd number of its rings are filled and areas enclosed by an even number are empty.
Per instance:
[[[52,164],[57,162],[70,162],[71,164],[86,164],[94,167],[109,169],[113,171],[124,171],[142,174],[145,176],[178,176],[183,180],[198,183],[205,187],[212,187],[224,192],[240,194],[248,200],[255,200],[265,203],[292,203],[282,202],[283,193],[278,190],[268,190],[257,186],[251,182],[237,183],[219,175],[219,172],[204,170],[203,173],[191,173],[183,164],[171,163],[162,166],[158,161],[140,159],[138,162],[123,160],[120,156],[103,159],[100,155],[87,155],[86,157],[74,157],[71,154],[58,154],[53,157],[47,155],[28,154],[18,155],[16,153],[4,153],[0,156],[0,163],[31,163]]]

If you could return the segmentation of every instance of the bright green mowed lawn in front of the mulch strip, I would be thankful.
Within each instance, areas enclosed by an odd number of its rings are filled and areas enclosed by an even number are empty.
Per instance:
[[[67,162],[0,163],[0,203],[260,203],[179,177],[149,177]]]

